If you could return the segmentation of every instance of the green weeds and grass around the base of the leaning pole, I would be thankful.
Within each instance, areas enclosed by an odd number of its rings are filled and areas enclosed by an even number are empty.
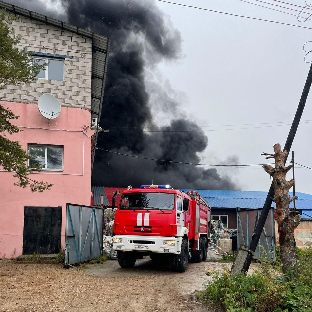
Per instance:
[[[198,294],[208,308],[226,312],[311,312],[312,311],[312,248],[296,250],[299,279],[282,274],[279,250],[277,266],[264,256],[260,269],[250,275],[230,276],[228,271],[210,271],[213,275],[206,289]],[[230,261],[224,256],[223,261]],[[235,256],[234,256],[235,258]]]

